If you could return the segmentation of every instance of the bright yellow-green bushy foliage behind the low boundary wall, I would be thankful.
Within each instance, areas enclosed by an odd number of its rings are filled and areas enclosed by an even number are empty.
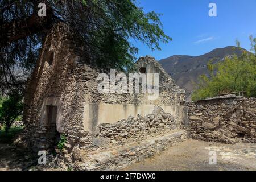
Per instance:
[[[250,40],[254,49],[256,39],[250,37]],[[241,91],[244,91],[247,97],[256,97],[256,56],[252,53],[245,51],[240,57],[226,57],[218,64],[210,62],[208,69],[210,77],[200,76],[198,89],[192,94],[192,100]]]

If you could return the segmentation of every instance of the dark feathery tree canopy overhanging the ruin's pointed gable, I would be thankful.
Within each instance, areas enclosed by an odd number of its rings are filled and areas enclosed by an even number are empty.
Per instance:
[[[160,14],[145,13],[135,0],[75,0],[44,1],[51,9],[52,23],[64,22],[70,32],[76,32],[90,63],[106,69],[127,71],[133,67],[138,48],[131,40],[160,50],[160,42],[171,38],[164,34]],[[18,0],[0,2],[1,22],[16,22],[30,18],[38,11],[38,1]],[[51,23],[50,23],[51,24]],[[49,26],[50,27],[50,26]],[[24,91],[26,77],[35,68],[39,49],[45,36],[44,28],[36,34],[7,44],[0,49],[0,82],[2,93],[18,88]],[[48,27],[47,27],[48,28]],[[23,33],[23,32],[22,32]],[[20,34],[18,32],[17,34]],[[78,43],[80,44],[80,42]],[[15,69],[14,69],[15,68]],[[18,75],[13,70],[19,68]]]

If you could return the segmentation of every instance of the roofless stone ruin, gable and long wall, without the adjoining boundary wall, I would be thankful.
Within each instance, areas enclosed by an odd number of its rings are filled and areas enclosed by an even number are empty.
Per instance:
[[[57,135],[64,134],[67,138],[64,149],[57,150],[60,161],[76,169],[88,163],[91,166],[82,169],[114,169],[153,155],[185,138],[184,131],[172,134],[181,129],[180,102],[184,100],[184,90],[174,85],[170,77],[164,74],[167,82],[159,86],[159,98],[149,100],[147,94],[98,93],[100,73],[110,74],[110,71],[89,63],[81,43],[70,35],[67,27],[59,23],[48,32],[35,71],[28,80],[24,100],[25,137],[34,151],[47,150],[57,142]],[[102,105],[107,107],[101,109]],[[154,110],[156,105],[164,110]],[[47,123],[48,106],[55,106],[57,110],[56,124]],[[116,108],[126,106],[133,106],[134,111],[127,110],[121,121],[118,118],[109,123],[110,120],[104,119],[102,113],[112,117],[109,110],[114,108],[118,113]],[[90,118],[91,122],[85,122],[85,118]],[[109,158],[102,157],[105,162],[93,157],[88,159],[89,155],[96,157],[112,152],[113,148],[119,148],[118,152]],[[119,162],[115,162],[117,159]]]

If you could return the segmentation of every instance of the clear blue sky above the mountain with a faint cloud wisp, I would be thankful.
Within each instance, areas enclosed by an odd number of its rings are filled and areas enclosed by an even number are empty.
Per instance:
[[[209,3],[216,3],[217,17],[210,17]],[[250,49],[249,35],[256,36],[256,0],[137,0],[144,11],[162,13],[163,30],[173,39],[152,52],[142,43],[138,57],[151,55],[157,60],[172,55],[202,55],[215,48],[235,46]]]

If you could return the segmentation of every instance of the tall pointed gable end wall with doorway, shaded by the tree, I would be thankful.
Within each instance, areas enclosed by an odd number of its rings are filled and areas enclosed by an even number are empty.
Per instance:
[[[57,107],[57,131],[80,136],[83,132],[84,82],[77,79],[79,61],[86,61],[79,42],[74,42],[64,24],[48,32],[24,98],[26,138],[34,150],[52,145],[54,126],[47,126],[46,105]],[[44,143],[44,144],[43,144]],[[47,145],[45,144],[47,143]]]

